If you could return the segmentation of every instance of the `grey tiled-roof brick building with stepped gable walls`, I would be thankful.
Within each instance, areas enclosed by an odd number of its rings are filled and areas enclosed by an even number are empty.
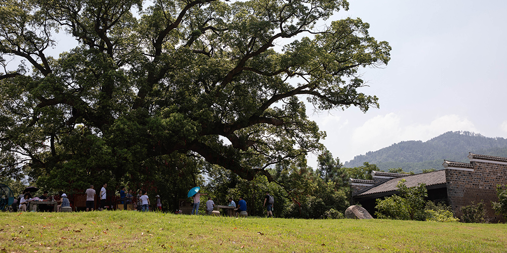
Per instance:
[[[354,202],[375,213],[375,199],[398,193],[396,185],[405,179],[407,187],[426,184],[428,200],[451,205],[456,216],[460,207],[484,201],[492,222],[502,218],[494,213],[491,201],[497,201],[496,185],[507,184],[507,158],[469,153],[470,163],[444,160],[444,170],[415,175],[373,172],[374,180],[350,179]],[[382,177],[382,178],[380,178]]]

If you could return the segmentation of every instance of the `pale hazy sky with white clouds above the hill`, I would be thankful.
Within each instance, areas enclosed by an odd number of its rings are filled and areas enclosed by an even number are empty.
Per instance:
[[[341,162],[448,131],[507,138],[507,1],[350,0],[333,20],[361,18],[388,41],[383,69],[361,70],[380,107],[313,113],[322,143]],[[327,22],[330,22],[328,20]],[[308,164],[316,167],[316,155]]]

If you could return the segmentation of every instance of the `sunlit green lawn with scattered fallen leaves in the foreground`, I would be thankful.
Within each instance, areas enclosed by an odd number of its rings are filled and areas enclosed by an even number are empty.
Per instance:
[[[0,213],[0,252],[505,252],[507,225]]]

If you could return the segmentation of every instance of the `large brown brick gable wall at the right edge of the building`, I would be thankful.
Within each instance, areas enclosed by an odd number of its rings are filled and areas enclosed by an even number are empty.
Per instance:
[[[507,183],[507,164],[488,161],[472,161],[474,171],[446,168],[447,195],[449,204],[456,216],[460,217],[460,207],[484,201],[486,215],[491,222],[503,221],[491,208],[491,201],[498,201],[496,185]]]

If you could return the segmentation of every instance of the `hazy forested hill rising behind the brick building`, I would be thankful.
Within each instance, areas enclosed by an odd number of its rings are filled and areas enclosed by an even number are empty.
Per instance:
[[[507,157],[507,139],[470,132],[447,132],[426,142],[404,141],[357,155],[344,166],[362,166],[367,161],[377,164],[383,171],[401,167],[405,172],[419,173],[428,168],[441,170],[444,159],[469,162],[468,152]]]

